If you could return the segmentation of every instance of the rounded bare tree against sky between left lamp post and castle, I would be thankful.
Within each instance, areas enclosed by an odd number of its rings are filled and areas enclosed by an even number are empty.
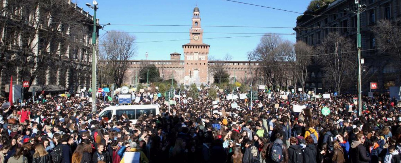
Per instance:
[[[128,68],[127,60],[135,56],[135,36],[125,32],[110,31],[103,40],[101,40],[100,53],[102,59],[107,60],[103,64],[105,74],[111,76],[112,81],[117,87],[121,86],[124,74]],[[111,83],[110,83],[111,84]]]

